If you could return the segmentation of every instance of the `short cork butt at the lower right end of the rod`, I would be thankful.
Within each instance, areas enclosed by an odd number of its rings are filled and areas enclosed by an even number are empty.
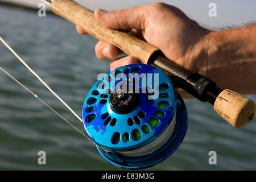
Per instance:
[[[254,117],[255,103],[232,90],[223,90],[214,102],[214,110],[234,127],[247,125]]]

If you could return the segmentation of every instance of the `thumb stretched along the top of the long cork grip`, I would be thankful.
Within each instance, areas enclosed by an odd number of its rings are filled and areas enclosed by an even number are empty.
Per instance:
[[[138,29],[144,30],[146,26],[146,13],[142,7],[133,7],[127,10],[105,11],[97,9],[95,18],[105,27],[111,29]]]

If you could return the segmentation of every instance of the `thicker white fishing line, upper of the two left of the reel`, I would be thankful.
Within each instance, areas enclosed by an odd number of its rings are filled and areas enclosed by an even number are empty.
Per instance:
[[[33,69],[30,68],[30,66],[27,65],[27,63],[13,50],[13,48],[11,48],[11,47],[5,42],[5,40],[2,39],[1,36],[0,36],[0,40],[1,40],[1,42],[13,53],[13,55],[20,61],[20,63],[22,63],[36,78],[38,78],[38,80],[39,80],[40,82],[42,82],[42,84],[43,84],[44,86],[46,86],[46,88],[47,88],[47,89],[48,89],[65,107],[67,107],[68,110],[71,111],[71,113],[72,113],[73,115],[75,115],[75,117],[76,117],[77,119],[79,119],[79,121],[82,122],[81,117],[79,117],[79,115],[77,115],[77,114],[75,113],[75,111],[73,111],[73,109],[71,109],[71,107],[69,107],[69,105],[66,104],[66,102],[64,102],[64,101],[46,84],[46,82],[44,82],[44,81],[42,80],[42,78],[41,78],[40,76],[38,76],[38,74],[36,74],[36,72],[34,72]]]

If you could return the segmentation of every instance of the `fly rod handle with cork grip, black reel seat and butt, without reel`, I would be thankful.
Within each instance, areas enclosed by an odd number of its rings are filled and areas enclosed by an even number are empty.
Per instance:
[[[71,0],[48,0],[47,2],[53,13],[80,26],[94,38],[110,42],[142,63],[162,69],[172,77],[175,86],[184,89],[200,101],[212,104],[214,110],[231,125],[243,127],[253,119],[255,104],[249,98],[229,89],[218,88],[209,78],[188,71],[160,55],[158,48],[133,35],[102,27],[94,18],[92,11],[76,2]]]

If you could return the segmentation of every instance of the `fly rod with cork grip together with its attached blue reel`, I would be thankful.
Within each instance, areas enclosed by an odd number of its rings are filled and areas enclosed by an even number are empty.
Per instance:
[[[102,27],[92,11],[71,0],[42,0],[53,13],[83,28],[94,38],[117,46],[127,55],[143,64],[126,65],[105,75],[89,90],[82,107],[82,121],[86,133],[97,143],[98,151],[115,166],[141,169],[167,159],[179,147],[188,127],[188,114],[182,98],[175,92],[181,88],[209,102],[214,110],[234,127],[249,123],[255,113],[255,104],[249,98],[232,90],[222,90],[216,83],[198,73],[167,59],[154,46],[118,30]],[[127,79],[114,81],[118,73]],[[120,92],[113,88],[125,81],[134,85],[135,73],[157,73],[159,97],[149,100],[152,92],[143,84],[139,90],[146,93]],[[148,79],[146,75],[141,78]],[[100,86],[99,86],[100,85]]]

